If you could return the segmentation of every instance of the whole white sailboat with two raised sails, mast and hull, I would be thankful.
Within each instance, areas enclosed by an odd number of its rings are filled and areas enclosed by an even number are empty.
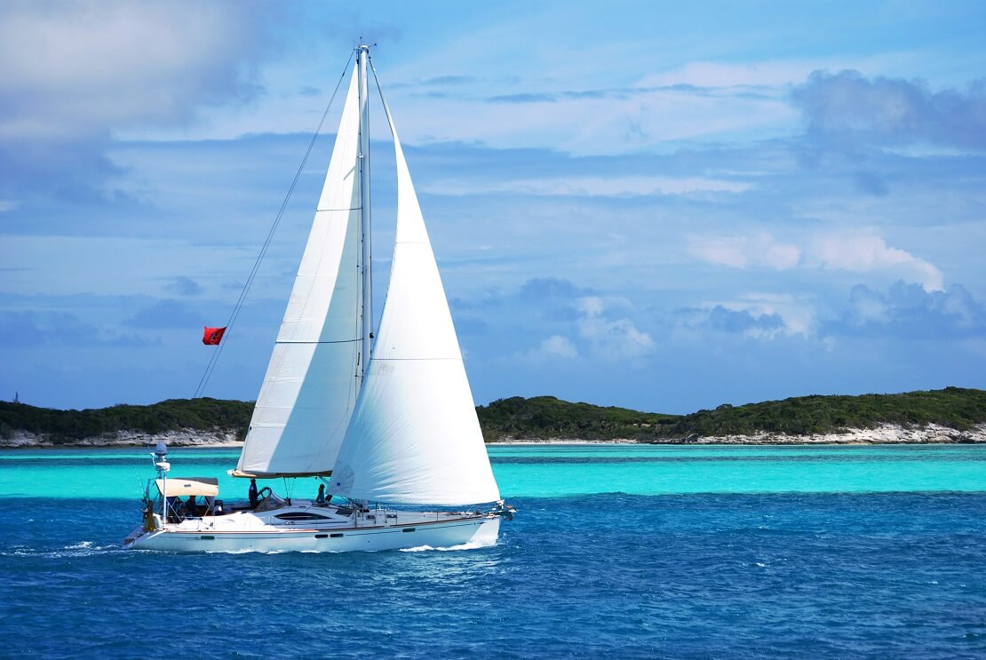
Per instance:
[[[168,449],[124,547],[176,551],[348,551],[495,544],[514,508],[500,497],[458,337],[393,119],[397,219],[376,335],[370,252],[369,47],[356,47],[312,231],[226,505],[218,479],[169,477]],[[301,478],[319,496],[256,481]],[[274,481],[276,483],[276,481]],[[313,481],[307,481],[309,487]],[[294,488],[297,490],[297,488]],[[422,505],[432,507],[420,510]]]

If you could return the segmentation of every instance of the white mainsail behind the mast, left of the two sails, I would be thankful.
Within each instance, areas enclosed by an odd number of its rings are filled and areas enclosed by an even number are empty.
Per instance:
[[[237,465],[241,474],[331,471],[356,404],[361,338],[357,83],[354,71],[312,233]]]

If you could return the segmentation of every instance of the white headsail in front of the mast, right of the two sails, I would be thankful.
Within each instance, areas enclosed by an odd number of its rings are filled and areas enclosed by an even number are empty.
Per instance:
[[[387,119],[397,158],[390,285],[329,491],[404,504],[492,502],[500,493],[456,329],[388,110]]]

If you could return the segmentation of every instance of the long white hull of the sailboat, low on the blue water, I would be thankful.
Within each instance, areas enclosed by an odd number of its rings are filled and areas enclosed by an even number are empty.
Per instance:
[[[176,552],[349,552],[410,548],[481,548],[496,544],[500,516],[488,513],[375,512],[359,518],[285,524],[277,515],[319,511],[309,506],[264,514],[237,512],[138,528],[124,542],[133,550]],[[389,515],[387,515],[389,514]],[[378,524],[378,519],[387,524]]]

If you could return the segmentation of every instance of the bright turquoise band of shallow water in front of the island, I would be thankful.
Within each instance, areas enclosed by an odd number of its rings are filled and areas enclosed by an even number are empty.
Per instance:
[[[500,445],[489,448],[506,497],[771,492],[986,491],[986,447],[975,445],[681,447]],[[175,477],[220,477],[223,496],[243,497],[229,477],[235,449],[173,449]],[[0,451],[0,497],[137,497],[152,477],[147,451]],[[311,485],[309,485],[311,484]],[[314,479],[291,487],[298,495]],[[275,483],[284,490],[284,484]]]

